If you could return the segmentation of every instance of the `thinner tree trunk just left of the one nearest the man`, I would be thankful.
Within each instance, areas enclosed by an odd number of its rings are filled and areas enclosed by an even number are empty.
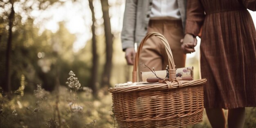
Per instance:
[[[96,46],[96,37],[95,37],[95,16],[94,16],[94,7],[92,4],[93,0],[89,0],[89,6],[92,11],[92,69],[91,69],[91,82],[90,88],[95,97],[97,97],[97,72],[98,72],[98,55],[97,55],[97,46]]]

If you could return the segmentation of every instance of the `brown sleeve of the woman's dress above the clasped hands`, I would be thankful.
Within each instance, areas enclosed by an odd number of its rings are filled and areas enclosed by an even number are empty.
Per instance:
[[[205,17],[202,3],[200,0],[188,0],[186,9],[185,34],[198,36]]]

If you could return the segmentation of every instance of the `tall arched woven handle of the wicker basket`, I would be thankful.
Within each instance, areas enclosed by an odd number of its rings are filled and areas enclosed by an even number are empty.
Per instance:
[[[171,48],[169,46],[168,41],[162,34],[159,34],[157,32],[151,32],[143,38],[143,40],[141,41],[141,44],[139,45],[138,51],[135,56],[135,62],[133,63],[132,82],[137,82],[137,65],[138,65],[139,54],[142,49],[142,46],[144,45],[146,40],[152,36],[158,37],[162,41],[162,43],[164,43],[165,50],[168,56],[168,63],[169,63],[169,81],[176,80],[176,71],[175,71],[175,65],[173,61],[173,54],[171,52]]]

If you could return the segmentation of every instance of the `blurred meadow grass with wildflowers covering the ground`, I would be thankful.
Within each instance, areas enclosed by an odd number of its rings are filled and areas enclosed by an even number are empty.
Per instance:
[[[37,89],[38,90],[38,89]],[[111,111],[111,94],[99,92],[94,99],[90,92],[79,91],[77,104],[81,110],[72,110],[73,94],[66,87],[59,88],[58,112],[56,92],[40,90],[24,96],[0,95],[0,128],[118,128]],[[226,111],[225,111],[226,112]],[[211,128],[204,111],[202,123],[187,128]],[[256,128],[256,108],[246,108],[244,128]]]

